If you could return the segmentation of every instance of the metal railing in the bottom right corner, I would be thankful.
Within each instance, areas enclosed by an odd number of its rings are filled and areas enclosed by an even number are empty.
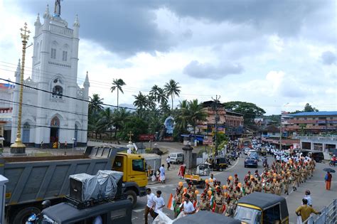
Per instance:
[[[337,223],[337,198],[321,210],[321,215],[310,215],[303,224],[334,224]]]

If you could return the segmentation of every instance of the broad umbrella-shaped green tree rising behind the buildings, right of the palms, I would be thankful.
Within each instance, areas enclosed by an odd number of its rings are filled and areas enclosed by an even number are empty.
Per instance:
[[[224,103],[225,110],[243,114],[244,124],[247,126],[254,125],[254,119],[261,117],[266,112],[252,102],[232,101]]]

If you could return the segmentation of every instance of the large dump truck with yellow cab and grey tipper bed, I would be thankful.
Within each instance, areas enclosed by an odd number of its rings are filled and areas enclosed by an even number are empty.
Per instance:
[[[6,219],[9,223],[25,223],[31,213],[41,212],[41,202],[52,205],[63,202],[69,194],[69,176],[96,174],[99,170],[123,172],[122,191],[137,203],[137,196],[146,196],[147,177],[141,155],[127,154],[124,148],[87,147],[77,156],[13,156],[0,157],[0,174],[6,184]]]

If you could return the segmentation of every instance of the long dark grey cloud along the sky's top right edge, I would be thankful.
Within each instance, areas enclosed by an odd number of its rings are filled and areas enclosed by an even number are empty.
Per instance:
[[[316,11],[325,6],[326,9],[334,7],[333,2],[329,0],[188,0],[170,1],[166,5],[181,17],[218,23],[228,21],[250,24],[259,30],[277,33],[279,36],[296,35],[306,19]]]

